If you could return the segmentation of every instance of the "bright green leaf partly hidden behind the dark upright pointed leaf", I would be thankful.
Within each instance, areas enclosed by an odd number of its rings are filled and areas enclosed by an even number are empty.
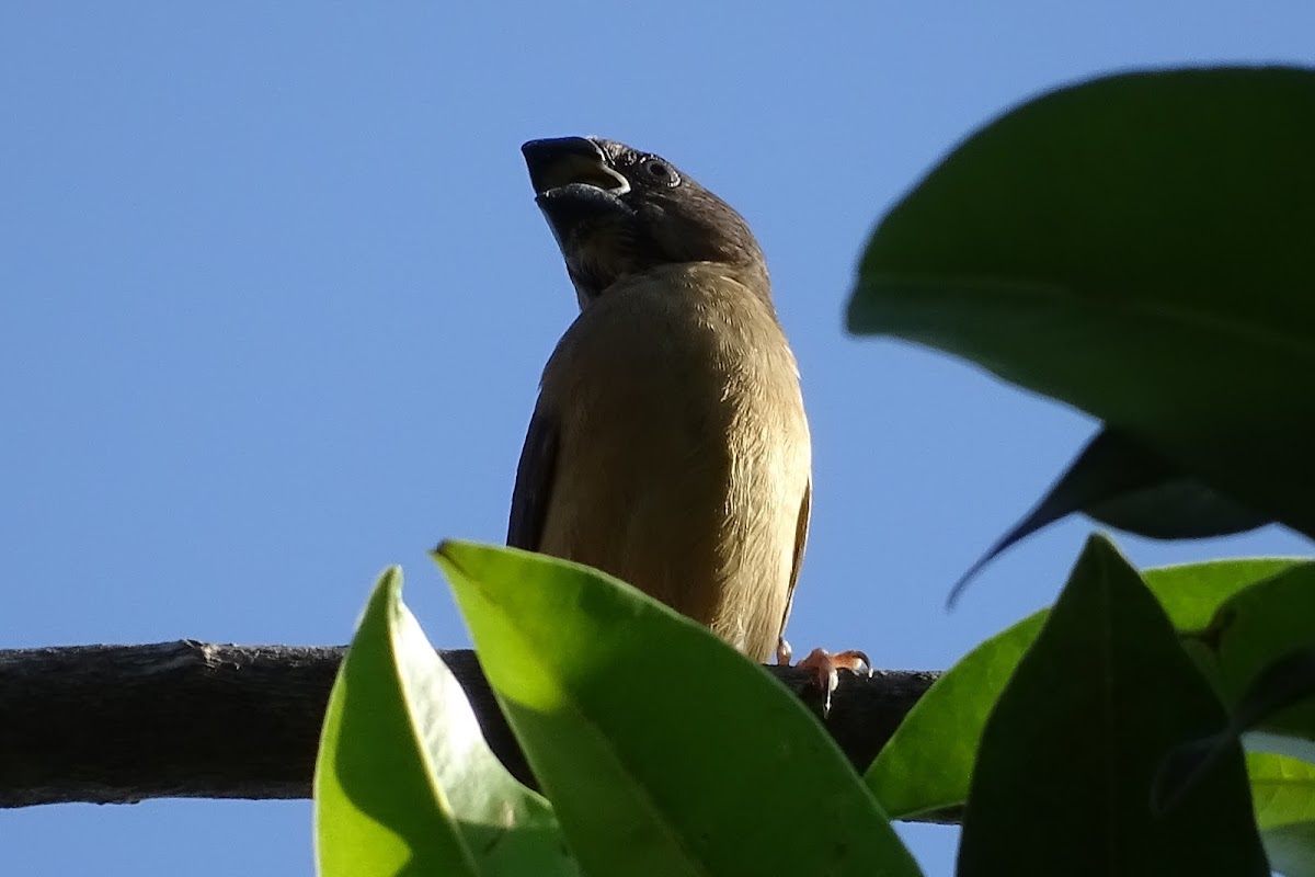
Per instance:
[[[1228,597],[1297,563],[1219,560],[1143,575],[1176,627],[1199,630]],[[865,776],[886,813],[905,819],[967,801],[986,717],[1047,614],[1035,613],[970,651],[905,717]]]

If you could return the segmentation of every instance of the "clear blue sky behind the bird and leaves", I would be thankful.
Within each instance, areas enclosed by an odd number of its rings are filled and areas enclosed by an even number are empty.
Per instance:
[[[1093,425],[846,337],[874,221],[1039,89],[1308,62],[1311,33],[1301,1],[4,4],[0,648],[343,643],[392,563],[430,638],[466,646],[425,551],[501,540],[576,308],[518,146],[597,133],[672,159],[768,254],[814,437],[796,651],[947,667],[1057,590],[1086,522],[943,610]],[[1310,550],[1120,544],[1143,565]],[[905,835],[952,872],[953,830]],[[0,866],[304,874],[310,805],[3,811]]]

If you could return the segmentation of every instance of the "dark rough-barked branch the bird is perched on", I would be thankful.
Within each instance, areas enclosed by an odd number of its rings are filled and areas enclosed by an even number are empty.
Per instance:
[[[195,640],[0,651],[0,807],[309,798],[345,651]],[[489,746],[527,780],[475,653],[441,655]],[[769,669],[817,709],[806,673]],[[840,676],[826,726],[863,770],[936,675]]]

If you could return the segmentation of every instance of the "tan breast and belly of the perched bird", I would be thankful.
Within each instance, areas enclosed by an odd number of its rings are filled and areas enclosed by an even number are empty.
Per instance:
[[[765,657],[810,469],[794,358],[765,297],[681,272],[609,289],[563,337],[543,398],[560,447],[542,550]]]

